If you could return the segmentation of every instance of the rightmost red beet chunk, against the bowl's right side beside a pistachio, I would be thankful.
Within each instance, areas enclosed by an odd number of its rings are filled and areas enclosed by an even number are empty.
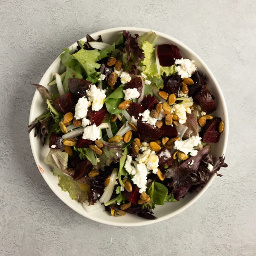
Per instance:
[[[218,131],[218,125],[221,122],[221,118],[215,117],[212,120],[207,120],[206,125],[202,132],[202,141],[208,143],[216,143],[220,139],[220,132]]]

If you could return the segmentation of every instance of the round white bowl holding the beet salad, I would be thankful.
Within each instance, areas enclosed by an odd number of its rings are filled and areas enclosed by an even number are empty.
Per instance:
[[[148,32],[150,29],[143,29],[143,28],[134,28],[134,27],[120,27],[120,28],[112,28],[112,29],[105,29],[99,32],[95,32],[91,34],[93,38],[98,38],[99,35],[102,35],[102,39],[106,43],[113,43],[118,38],[117,33],[121,33],[122,30],[127,30],[131,32],[131,34],[137,33],[139,35]],[[209,70],[207,65],[201,58],[195,54],[189,47],[181,43],[175,38],[172,38],[169,35],[166,35],[161,32],[154,31],[159,38],[157,38],[157,44],[163,43],[172,43],[179,47],[181,55],[183,58],[189,58],[196,61],[196,66],[201,73],[204,73],[207,76],[207,86],[209,87],[210,92],[215,96],[215,105],[217,110],[213,113],[214,116],[219,116],[225,122],[225,130],[221,134],[221,138],[218,143],[212,144],[212,155],[218,157],[225,154],[226,147],[227,147],[227,138],[228,138],[228,115],[227,115],[227,106],[225,103],[224,96],[221,92],[221,88],[218,85],[215,77],[213,76],[212,72]],[[82,38],[81,40],[86,41],[86,38]],[[71,47],[76,48],[77,43],[74,43]],[[71,49],[71,48],[70,48]],[[47,84],[52,80],[52,76],[56,72],[62,72],[63,67],[61,67],[61,59],[58,58],[53,61],[51,66],[47,69],[44,73],[39,84],[46,86],[48,89],[49,87]],[[46,110],[46,104],[38,92],[35,92],[33,97],[30,116],[29,116],[29,123],[32,123],[38,116],[40,116]],[[181,198],[179,202],[170,202],[166,203],[163,206],[157,206],[154,209],[154,215],[157,217],[156,220],[146,220],[143,218],[138,217],[137,215],[126,214],[123,217],[112,217],[110,214],[105,212],[103,209],[97,209],[94,212],[86,212],[84,208],[79,204],[77,201],[72,200],[69,196],[68,192],[61,191],[61,188],[58,186],[58,178],[52,175],[51,169],[49,165],[44,163],[44,158],[47,156],[49,148],[42,147],[40,140],[38,137],[34,138],[34,132],[29,134],[30,144],[32,148],[32,153],[35,158],[35,162],[40,170],[44,180],[48,184],[48,186],[52,189],[52,191],[60,198],[65,204],[67,204],[70,208],[78,212],[79,214],[87,217],[93,221],[98,221],[103,224],[109,224],[114,226],[142,226],[148,225],[152,223],[156,223],[158,221],[163,221],[167,218],[171,218],[178,213],[185,210],[187,207],[192,205],[196,200],[198,200],[201,195],[207,190],[210,186],[212,181],[215,178],[215,174],[209,179],[209,181],[205,184],[205,186],[200,189],[198,192],[194,192],[192,194],[188,193],[185,198]]]

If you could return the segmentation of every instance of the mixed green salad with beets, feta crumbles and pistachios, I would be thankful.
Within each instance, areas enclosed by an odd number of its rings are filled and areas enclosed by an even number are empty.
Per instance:
[[[123,31],[107,44],[87,35],[63,49],[52,90],[33,84],[47,111],[28,132],[49,146],[45,163],[88,212],[155,219],[156,205],[175,204],[227,167],[211,154],[224,122],[211,114],[207,78],[157,37]]]

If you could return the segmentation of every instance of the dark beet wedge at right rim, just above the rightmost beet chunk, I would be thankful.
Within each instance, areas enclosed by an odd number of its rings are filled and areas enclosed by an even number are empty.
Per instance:
[[[204,108],[204,110],[209,114],[212,113],[212,111],[215,111],[216,107],[214,104],[214,101],[212,99],[212,96],[207,89],[207,87],[204,85],[200,88],[198,93],[195,96],[195,99],[198,101],[200,106]]]

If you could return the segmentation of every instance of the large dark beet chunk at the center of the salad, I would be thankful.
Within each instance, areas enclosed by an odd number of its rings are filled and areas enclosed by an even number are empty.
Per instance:
[[[162,132],[157,127],[148,125],[147,123],[137,121],[138,134],[140,135],[141,141],[151,142],[161,137]]]

